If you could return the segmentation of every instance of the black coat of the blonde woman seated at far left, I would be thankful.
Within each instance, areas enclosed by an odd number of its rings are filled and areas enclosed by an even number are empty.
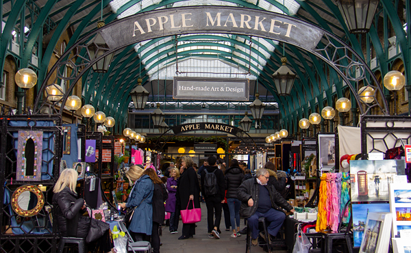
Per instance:
[[[84,205],[83,198],[77,198],[77,194],[69,187],[65,187],[62,191],[53,195],[53,206],[57,207],[57,220],[62,236],[67,236],[67,222],[75,222],[73,219],[77,213],[84,213],[82,207]],[[90,218],[78,217],[77,237],[86,237],[90,226]]]

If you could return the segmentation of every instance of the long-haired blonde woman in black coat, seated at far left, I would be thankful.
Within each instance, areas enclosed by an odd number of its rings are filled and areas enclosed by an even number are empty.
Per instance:
[[[60,173],[60,177],[53,188],[53,206],[57,208],[57,221],[61,235],[68,236],[68,222],[70,224],[71,222],[77,222],[77,234],[74,236],[84,238],[88,234],[90,218],[79,215],[86,211],[86,201],[83,198],[77,198],[75,191],[77,177],[78,173],[73,169],[65,169]],[[73,219],[77,219],[77,221]],[[95,220],[95,222],[97,221]],[[109,228],[109,226],[107,227]],[[89,248],[95,248],[94,252],[111,252],[112,244],[108,228],[102,237],[92,243],[95,247],[89,245]]]

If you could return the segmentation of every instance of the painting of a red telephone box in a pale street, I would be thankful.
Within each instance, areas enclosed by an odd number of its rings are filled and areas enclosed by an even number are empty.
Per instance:
[[[388,201],[388,184],[395,175],[404,175],[404,160],[350,161],[351,201]]]

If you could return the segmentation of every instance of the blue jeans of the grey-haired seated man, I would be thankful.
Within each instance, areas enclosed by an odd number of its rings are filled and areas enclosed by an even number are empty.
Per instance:
[[[279,228],[281,228],[284,220],[286,219],[286,214],[282,211],[277,211],[275,209],[270,209],[266,213],[259,213],[256,211],[251,217],[247,219],[248,226],[251,228],[251,238],[258,238],[258,218],[264,217],[269,226],[267,228],[270,235],[275,237]]]

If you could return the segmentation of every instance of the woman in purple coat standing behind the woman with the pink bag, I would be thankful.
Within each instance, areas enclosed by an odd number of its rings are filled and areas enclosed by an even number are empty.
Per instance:
[[[170,213],[170,232],[177,233],[178,217],[175,217],[175,192],[177,191],[177,180],[179,178],[179,171],[177,168],[170,170],[170,177],[167,179],[167,190],[169,191],[169,198],[166,201],[166,212]]]

